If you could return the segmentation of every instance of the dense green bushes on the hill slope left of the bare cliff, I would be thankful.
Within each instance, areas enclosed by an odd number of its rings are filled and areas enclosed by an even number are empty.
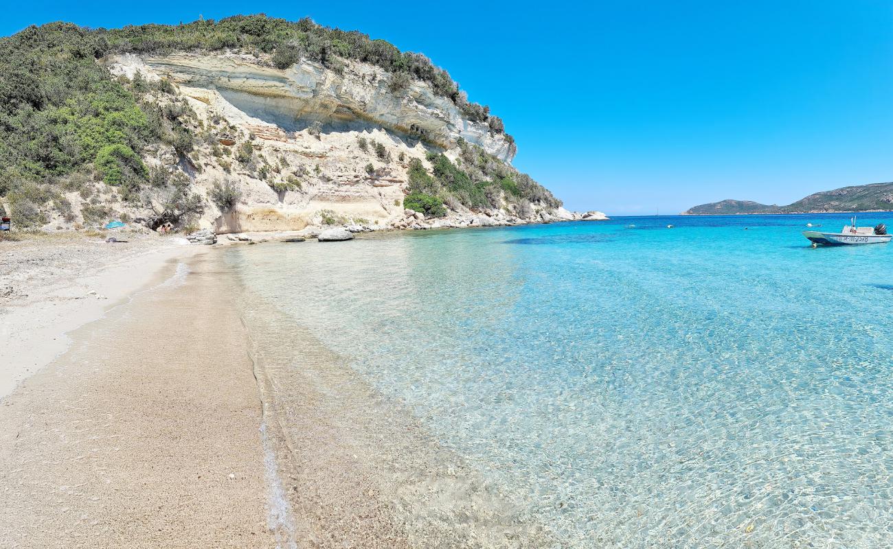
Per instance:
[[[170,93],[170,83],[112,79],[96,62],[107,48],[101,34],[69,23],[0,39],[0,195],[24,226],[42,218],[23,212],[60,203],[59,188],[79,190],[84,177],[137,201],[150,183],[140,159],[146,145],[163,142],[183,154],[192,148],[179,122],[185,104],[144,101]]]

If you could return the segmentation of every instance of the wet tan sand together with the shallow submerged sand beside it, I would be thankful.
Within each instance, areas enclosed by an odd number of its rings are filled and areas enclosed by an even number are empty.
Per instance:
[[[151,248],[109,268],[141,274],[81,307],[63,352],[0,398],[0,540],[554,545],[345,357],[257,304],[226,253]]]

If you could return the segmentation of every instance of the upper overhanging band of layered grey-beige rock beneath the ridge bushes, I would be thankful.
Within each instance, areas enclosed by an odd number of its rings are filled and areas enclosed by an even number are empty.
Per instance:
[[[503,162],[515,147],[483,122],[463,119],[445,97],[419,80],[394,90],[392,76],[379,67],[347,62],[342,74],[303,61],[280,71],[245,54],[171,54],[143,60],[157,74],[183,86],[220,92],[247,114],[295,131],[312,121],[329,129],[380,127],[451,148],[462,137]]]

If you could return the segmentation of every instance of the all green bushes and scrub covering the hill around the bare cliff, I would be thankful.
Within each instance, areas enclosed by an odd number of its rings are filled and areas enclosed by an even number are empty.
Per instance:
[[[41,214],[45,204],[53,204],[63,214],[71,212],[62,191],[80,191],[81,211],[96,213],[91,219],[102,219],[110,212],[102,204],[105,199],[88,190],[94,180],[113,189],[114,200],[160,207],[150,225],[188,216],[183,207],[199,204],[189,194],[188,184],[150,171],[142,159],[149,147],[159,143],[173,146],[186,159],[196,142],[208,138],[207,132],[188,129],[196,128],[184,123],[194,113],[177,98],[170,82],[149,83],[138,76],[113,79],[97,60],[111,53],[224,48],[271,54],[272,62],[280,67],[301,58],[319,61],[334,71],[343,68],[343,59],[369,62],[393,73],[392,84],[405,87],[410,80],[420,79],[454,101],[471,120],[487,122],[494,132],[505,131],[488,107],[469,103],[447,72],[424,55],[403,53],[384,40],[321,27],[309,19],[291,22],[260,14],[123,29],[86,29],[63,22],[32,26],[0,38],[0,196],[13,205],[17,224],[46,223]],[[461,165],[442,154],[431,156],[434,175],[426,171],[430,181],[416,175],[413,192],[424,196],[410,204],[430,215],[442,214],[443,202],[472,209],[491,207],[497,205],[499,189],[521,210],[529,208],[530,202],[561,204],[529,176],[480,147],[461,146]],[[242,153],[249,159],[252,155],[250,150]],[[281,185],[285,190],[300,187],[299,183]],[[147,200],[147,189],[171,198]]]

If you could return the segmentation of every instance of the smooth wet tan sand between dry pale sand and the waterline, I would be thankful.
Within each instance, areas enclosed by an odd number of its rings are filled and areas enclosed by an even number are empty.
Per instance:
[[[275,546],[230,278],[188,263],[0,400],[0,546]]]

